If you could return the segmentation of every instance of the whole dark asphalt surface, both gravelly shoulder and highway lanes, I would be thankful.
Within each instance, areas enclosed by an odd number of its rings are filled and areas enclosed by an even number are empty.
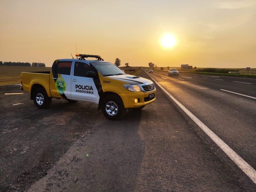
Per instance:
[[[150,79],[145,71],[139,76]],[[217,87],[209,77],[150,76],[255,169],[255,99],[219,90],[238,91],[232,81]],[[4,95],[21,93],[17,86],[0,87],[0,191],[256,191],[155,85],[156,101],[119,121],[87,102],[55,99],[39,110],[28,93]]]

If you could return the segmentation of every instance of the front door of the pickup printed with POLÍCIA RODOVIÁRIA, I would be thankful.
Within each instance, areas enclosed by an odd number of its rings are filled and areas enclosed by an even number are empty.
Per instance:
[[[98,90],[94,79],[86,76],[88,71],[93,71],[98,76],[97,71],[89,64],[79,61],[74,62],[73,75],[71,76],[71,98],[98,103]]]

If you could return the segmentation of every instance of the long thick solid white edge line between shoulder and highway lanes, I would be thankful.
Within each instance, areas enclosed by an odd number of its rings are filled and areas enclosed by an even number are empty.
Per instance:
[[[148,75],[150,76],[150,75]],[[150,76],[151,77],[151,76]],[[151,77],[152,78],[152,77]],[[153,79],[153,78],[152,78]],[[155,82],[156,80],[153,79]],[[246,163],[236,152],[234,152],[224,141],[212,132],[204,123],[193,115],[183,104],[175,99],[158,82],[156,84],[224,151],[229,158],[256,184],[256,171]],[[256,99],[256,98],[255,98]]]

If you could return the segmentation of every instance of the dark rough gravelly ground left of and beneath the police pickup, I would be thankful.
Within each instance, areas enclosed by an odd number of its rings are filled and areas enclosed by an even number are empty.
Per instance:
[[[24,191],[47,175],[95,123],[101,113],[97,106],[53,99],[49,109],[40,110],[19,86],[0,87],[0,191]]]

